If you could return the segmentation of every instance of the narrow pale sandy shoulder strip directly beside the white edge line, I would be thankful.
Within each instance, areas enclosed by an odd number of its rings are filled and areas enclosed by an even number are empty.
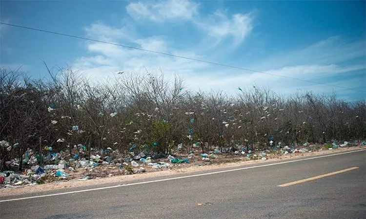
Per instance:
[[[17,186],[13,188],[2,188],[0,189],[0,197],[2,196],[12,196],[12,195],[20,195],[20,194],[27,194],[27,193],[35,193],[41,191],[50,191],[62,188],[74,188],[80,187],[85,185],[102,185],[106,183],[128,183],[131,180],[148,180],[149,178],[153,177],[163,177],[163,176],[174,176],[175,174],[180,173],[194,173],[197,171],[203,170],[220,170],[222,168],[227,167],[237,167],[244,164],[264,164],[267,162],[275,162],[275,161],[284,161],[291,158],[301,158],[301,157],[308,157],[313,155],[324,155],[324,154],[331,154],[331,153],[339,153],[351,150],[359,150],[365,149],[366,146],[352,146],[346,148],[337,148],[333,150],[320,150],[314,152],[305,152],[305,153],[291,153],[283,156],[277,156],[275,158],[270,158],[265,161],[262,160],[250,160],[250,161],[241,161],[235,163],[224,163],[224,164],[206,164],[206,165],[192,165],[192,164],[176,164],[174,167],[168,169],[162,169],[156,172],[145,172],[133,175],[120,175],[120,176],[111,176],[107,178],[96,178],[90,180],[80,181],[78,179],[58,182],[58,183],[46,183],[46,184],[37,184],[37,185],[26,185],[26,186]]]

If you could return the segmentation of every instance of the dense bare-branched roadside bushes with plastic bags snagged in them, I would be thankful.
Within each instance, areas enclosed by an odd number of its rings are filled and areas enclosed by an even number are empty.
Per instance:
[[[15,158],[21,171],[29,149],[41,165],[49,151],[71,158],[79,146],[89,159],[108,147],[163,156],[178,147],[234,152],[361,139],[365,100],[350,103],[334,93],[282,96],[251,87],[229,96],[189,91],[183,79],[163,73],[122,73],[98,83],[69,68],[49,70],[42,80],[0,69],[0,171]]]

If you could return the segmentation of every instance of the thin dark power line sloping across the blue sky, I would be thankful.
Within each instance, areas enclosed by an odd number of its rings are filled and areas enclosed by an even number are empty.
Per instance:
[[[43,29],[38,29],[38,28],[33,28],[33,27],[26,27],[26,26],[21,26],[21,25],[16,25],[16,24],[10,24],[10,23],[4,23],[4,22],[0,22],[0,24],[12,26],[12,27],[18,27],[18,28],[27,29],[27,30],[40,31],[40,32],[48,33],[48,34],[60,35],[60,36],[64,36],[64,37],[72,37],[72,38],[78,38],[78,39],[84,39],[84,40],[88,40],[88,41],[93,41],[93,42],[100,42],[100,43],[105,43],[105,44],[109,44],[109,45],[120,46],[120,47],[124,47],[124,48],[128,48],[128,49],[140,50],[140,51],[148,52],[148,53],[155,53],[155,54],[159,54],[159,55],[167,55],[167,56],[172,56],[172,57],[177,57],[177,58],[183,58],[183,59],[188,59],[188,60],[192,60],[192,61],[208,63],[208,64],[212,64],[212,65],[217,65],[217,66],[223,66],[223,67],[228,67],[228,68],[233,68],[233,69],[244,70],[244,71],[248,71],[248,72],[262,73],[262,74],[267,74],[267,75],[272,75],[272,76],[277,76],[277,77],[282,77],[282,78],[287,78],[287,79],[292,79],[292,80],[297,80],[297,81],[302,81],[302,82],[308,82],[308,83],[313,83],[313,84],[325,85],[325,86],[328,86],[328,87],[335,87],[335,88],[341,88],[341,89],[346,89],[346,90],[366,92],[365,90],[358,90],[358,89],[353,89],[353,88],[346,88],[346,87],[342,87],[342,86],[338,86],[338,85],[325,84],[325,83],[321,83],[321,82],[310,81],[310,80],[305,80],[305,79],[300,79],[300,78],[295,78],[295,77],[289,77],[289,76],[278,75],[278,74],[273,74],[273,73],[266,73],[266,72],[262,72],[262,71],[256,71],[256,70],[246,69],[246,68],[242,68],[242,67],[237,67],[237,66],[232,66],[232,65],[226,65],[226,64],[222,64],[222,63],[217,63],[217,62],[205,61],[205,60],[196,59],[196,58],[190,58],[190,57],[181,56],[181,55],[173,55],[173,54],[168,54],[168,53],[163,53],[163,52],[158,52],[158,51],[153,51],[153,50],[146,50],[146,49],[142,49],[142,48],[137,48],[137,47],[133,47],[133,46],[127,46],[127,45],[123,45],[123,44],[119,44],[119,43],[112,43],[112,42],[102,41],[102,40],[98,40],[98,39],[91,39],[91,38],[87,38],[87,37],[79,37],[79,36],[75,36],[75,35],[63,34],[63,33],[59,33],[59,32],[47,31],[47,30],[43,30]]]

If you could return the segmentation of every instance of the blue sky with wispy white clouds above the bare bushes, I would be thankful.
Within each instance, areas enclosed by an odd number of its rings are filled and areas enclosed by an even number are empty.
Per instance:
[[[365,1],[1,1],[1,22],[365,90]],[[281,94],[345,90],[0,25],[0,64],[35,77],[71,66],[91,79],[163,71],[190,90],[238,92],[253,84]]]

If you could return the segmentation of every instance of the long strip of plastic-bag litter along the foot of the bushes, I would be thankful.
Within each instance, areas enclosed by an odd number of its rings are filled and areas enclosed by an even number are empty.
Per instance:
[[[322,150],[322,148],[330,150],[338,147],[361,145],[365,146],[366,142],[338,143],[333,140],[323,146],[310,145],[307,142],[301,147],[281,146],[281,143],[279,143],[274,145],[272,149],[265,150],[252,150],[251,148],[246,150],[244,146],[236,146],[236,148],[241,149],[230,152],[233,151],[231,147],[221,149],[215,147],[209,153],[199,153],[198,150],[195,151],[197,145],[194,144],[188,153],[181,153],[181,156],[147,152],[148,150],[138,152],[136,145],[130,147],[129,152],[126,153],[127,155],[123,155],[119,150],[113,150],[111,147],[106,149],[90,148],[89,150],[87,146],[81,144],[59,152],[54,152],[51,146],[46,146],[43,154],[36,154],[28,148],[22,155],[21,161],[20,159],[12,159],[5,162],[8,170],[0,172],[0,186],[6,188],[49,182],[57,183],[62,180],[89,180],[96,178],[96,175],[100,172],[107,172],[107,176],[113,176],[113,173],[110,172],[112,170],[117,171],[119,175],[127,175],[146,172],[147,167],[151,168],[151,171],[154,171],[153,169],[156,171],[167,167],[172,168],[176,165],[181,166],[182,164],[202,166],[203,164],[212,164],[223,161],[224,158],[232,159],[237,156],[243,158],[240,160],[264,161],[273,158],[272,155],[306,153]],[[9,144],[1,141],[0,146],[9,147]],[[183,145],[179,144],[177,153],[182,152],[182,148]],[[22,162],[24,170],[20,173],[13,171],[19,168],[20,162]],[[102,171],[103,168],[108,171]]]

